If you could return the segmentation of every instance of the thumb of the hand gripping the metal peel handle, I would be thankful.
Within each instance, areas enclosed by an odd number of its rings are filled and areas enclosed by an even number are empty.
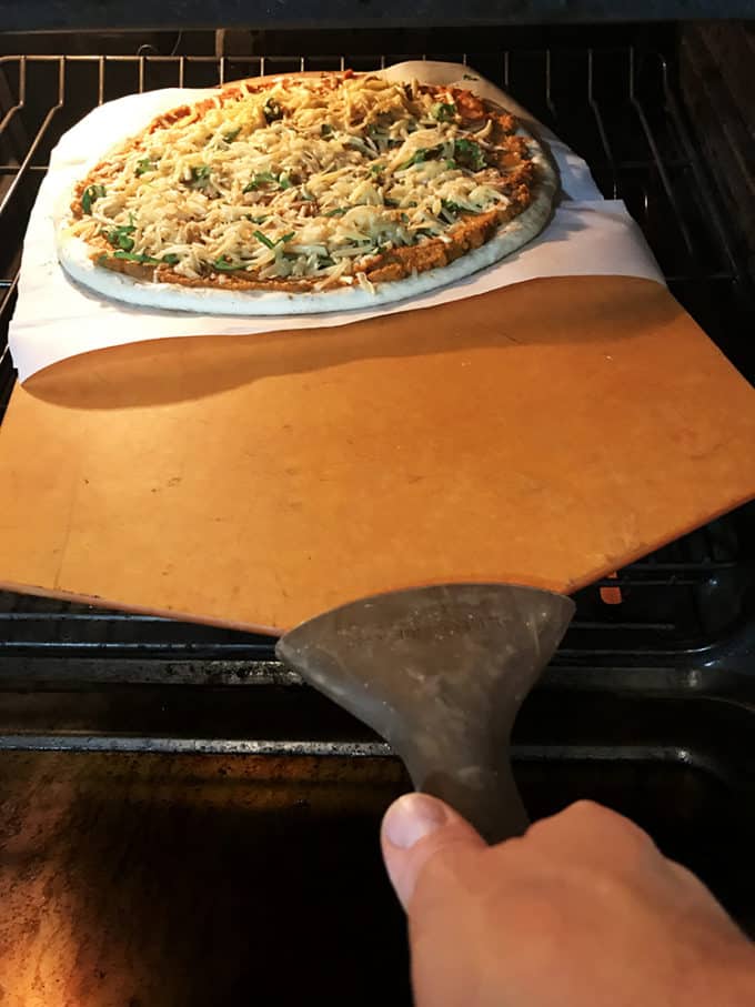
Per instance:
[[[454,852],[485,848],[469,822],[427,794],[404,794],[394,800],[383,818],[380,840],[387,876],[404,909],[431,858],[451,847]]]

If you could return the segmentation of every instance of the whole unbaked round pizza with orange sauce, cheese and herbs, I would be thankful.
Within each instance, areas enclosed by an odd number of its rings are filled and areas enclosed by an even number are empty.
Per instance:
[[[56,222],[84,286],[228,314],[396,301],[531,241],[557,174],[501,105],[350,71],[234,82],[111,150]]]

